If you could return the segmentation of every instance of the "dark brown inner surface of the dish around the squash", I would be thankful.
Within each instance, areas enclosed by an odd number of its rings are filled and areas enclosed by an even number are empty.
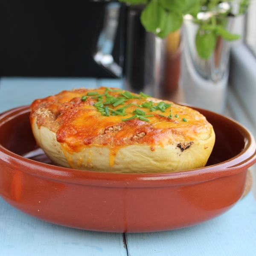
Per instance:
[[[244,149],[246,141],[239,125],[209,111],[199,112],[213,125],[216,134],[215,145],[206,166],[229,160]],[[53,165],[44,152],[38,150],[29,122],[29,110],[0,124],[0,144],[20,156]]]

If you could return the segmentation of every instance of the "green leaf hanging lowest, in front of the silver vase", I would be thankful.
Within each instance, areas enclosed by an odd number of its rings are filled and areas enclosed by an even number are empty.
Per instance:
[[[198,29],[195,37],[195,45],[198,55],[203,59],[208,59],[212,56],[212,52],[216,44],[216,34],[214,31],[205,32]]]

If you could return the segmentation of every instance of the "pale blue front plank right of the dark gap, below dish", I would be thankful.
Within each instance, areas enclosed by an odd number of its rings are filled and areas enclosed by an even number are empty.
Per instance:
[[[211,221],[180,230],[125,236],[129,256],[255,256],[256,201],[250,192]]]

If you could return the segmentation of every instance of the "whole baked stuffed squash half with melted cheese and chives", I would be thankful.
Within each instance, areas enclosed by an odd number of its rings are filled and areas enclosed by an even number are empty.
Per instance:
[[[174,172],[203,167],[212,125],[173,102],[101,87],[63,91],[31,105],[38,145],[55,163],[100,172]]]

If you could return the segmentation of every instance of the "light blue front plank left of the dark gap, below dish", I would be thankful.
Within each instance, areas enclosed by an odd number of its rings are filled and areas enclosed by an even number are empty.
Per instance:
[[[51,224],[26,215],[0,198],[1,256],[127,256],[122,233]]]

